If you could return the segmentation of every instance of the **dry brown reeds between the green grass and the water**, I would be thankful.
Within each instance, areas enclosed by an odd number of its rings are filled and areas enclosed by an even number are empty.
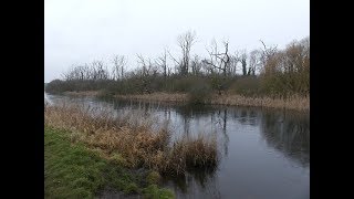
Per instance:
[[[46,106],[45,125],[70,129],[72,142],[85,143],[102,157],[129,167],[185,174],[187,167],[216,166],[216,137],[199,134],[170,144],[166,126],[153,130],[153,119],[129,112],[118,117],[107,109],[80,105]]]

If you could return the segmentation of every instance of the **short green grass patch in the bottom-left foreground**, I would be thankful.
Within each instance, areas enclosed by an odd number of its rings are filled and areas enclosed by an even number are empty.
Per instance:
[[[108,161],[82,143],[70,140],[72,132],[44,126],[44,197],[95,198],[104,190],[121,196],[174,198],[168,189],[158,188],[148,172],[136,172],[122,164]]]

